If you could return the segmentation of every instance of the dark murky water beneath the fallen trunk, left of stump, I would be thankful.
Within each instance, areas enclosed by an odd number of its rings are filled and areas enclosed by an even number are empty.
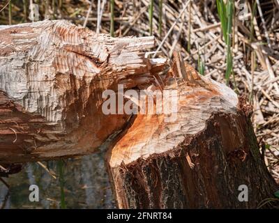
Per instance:
[[[115,208],[110,181],[105,169],[103,152],[63,164],[65,200],[67,208]],[[44,164],[46,164],[44,162]],[[58,174],[58,162],[49,162],[49,168]],[[52,178],[37,163],[29,163],[19,174],[3,178],[10,190],[0,181],[0,208],[59,208],[59,178]],[[29,201],[29,186],[36,184],[40,201]]]

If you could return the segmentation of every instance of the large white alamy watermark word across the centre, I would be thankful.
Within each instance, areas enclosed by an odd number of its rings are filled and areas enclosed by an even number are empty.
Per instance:
[[[165,122],[176,121],[177,90],[130,89],[124,93],[123,84],[119,84],[117,92],[105,90],[102,98],[106,99],[102,105],[103,114],[165,114]]]

